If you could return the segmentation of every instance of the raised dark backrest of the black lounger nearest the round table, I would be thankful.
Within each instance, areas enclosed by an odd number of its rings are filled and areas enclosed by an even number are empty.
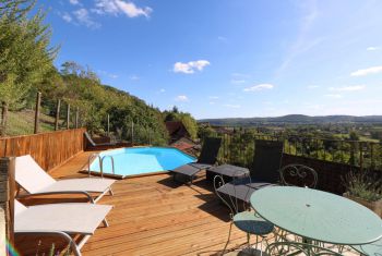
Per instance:
[[[283,142],[256,139],[254,142],[253,163],[250,169],[254,182],[277,183],[282,166]]]

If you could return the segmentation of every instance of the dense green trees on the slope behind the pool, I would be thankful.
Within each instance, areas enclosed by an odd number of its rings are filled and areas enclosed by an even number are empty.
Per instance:
[[[110,132],[117,137],[132,139],[136,144],[151,142],[163,145],[167,142],[167,132],[159,110],[124,92],[102,85],[89,68],[83,69],[73,61],[65,62],[62,66],[62,85],[52,92],[81,110],[82,124],[89,132],[104,134],[109,114]]]

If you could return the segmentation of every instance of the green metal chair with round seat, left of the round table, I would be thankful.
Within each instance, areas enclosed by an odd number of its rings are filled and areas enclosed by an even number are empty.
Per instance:
[[[255,211],[251,210],[248,207],[248,203],[244,200],[238,199],[237,196],[234,195],[226,195],[224,193],[220,193],[218,191],[218,187],[225,185],[224,179],[222,175],[214,176],[214,188],[216,195],[222,199],[222,202],[227,205],[227,207],[230,210],[230,225],[229,225],[229,233],[227,243],[223,249],[223,254],[225,253],[229,240],[230,240],[230,233],[232,224],[235,224],[239,230],[247,233],[247,243],[248,243],[248,249],[249,252],[252,251],[251,244],[250,244],[250,235],[253,234],[256,236],[256,245],[255,249],[258,251],[258,244],[259,244],[259,236],[262,239],[265,239],[267,234],[272,233],[274,230],[274,225],[261,218],[255,214]],[[235,187],[234,187],[235,190]],[[251,193],[251,187],[248,186],[248,193]],[[242,192],[240,192],[242,193]],[[242,203],[242,206],[240,205]],[[243,209],[242,211],[240,211]],[[262,244],[261,244],[261,255],[262,255]]]

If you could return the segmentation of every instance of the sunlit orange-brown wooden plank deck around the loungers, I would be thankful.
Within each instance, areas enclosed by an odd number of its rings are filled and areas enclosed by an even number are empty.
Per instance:
[[[51,174],[58,179],[83,175],[77,171],[88,155],[76,156]],[[82,248],[83,255],[214,255],[224,248],[229,214],[204,179],[190,187],[159,174],[120,180],[112,190],[114,196],[99,202],[115,206],[108,215],[110,227],[96,230]],[[52,198],[37,200],[50,203]],[[244,242],[246,234],[234,227],[228,248]],[[52,243],[60,247],[58,241],[47,237],[17,236],[15,243],[22,255],[41,255]]]

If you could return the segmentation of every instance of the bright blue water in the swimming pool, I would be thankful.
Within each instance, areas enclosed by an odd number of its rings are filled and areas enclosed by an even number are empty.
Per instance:
[[[120,148],[103,151],[100,158],[112,156],[115,174],[118,176],[138,175],[151,172],[168,171],[180,166],[195,161],[195,158],[176,148],[166,147],[138,147]],[[104,173],[112,173],[111,159],[104,158]],[[91,171],[99,171],[99,160],[91,164]]]

